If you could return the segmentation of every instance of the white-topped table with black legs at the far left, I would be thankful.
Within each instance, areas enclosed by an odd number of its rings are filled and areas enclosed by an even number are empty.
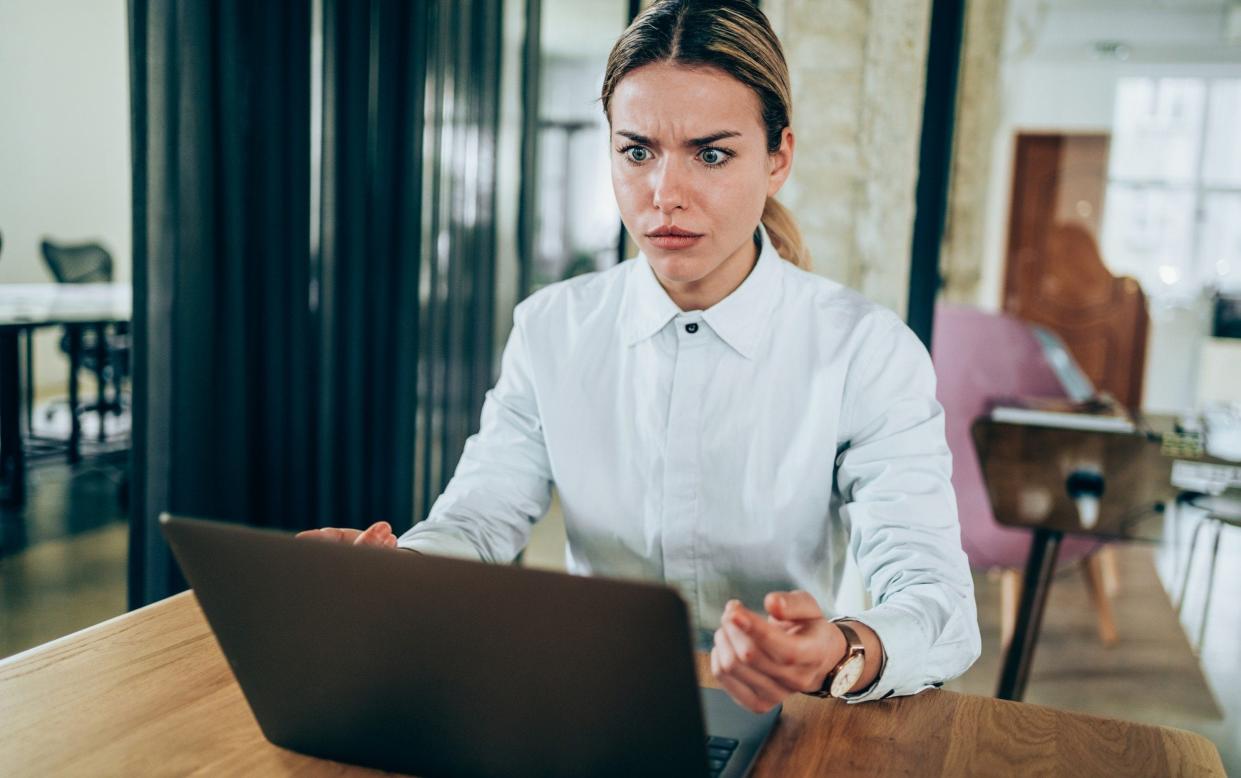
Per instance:
[[[132,309],[125,284],[0,284],[0,501],[20,506],[26,500],[21,398],[34,392],[34,376],[27,376],[31,386],[21,385],[19,336],[43,326],[129,321]],[[73,434],[79,436],[72,408],[71,416]]]

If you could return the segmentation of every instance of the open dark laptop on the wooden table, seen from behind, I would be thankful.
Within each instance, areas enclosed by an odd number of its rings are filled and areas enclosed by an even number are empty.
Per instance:
[[[699,689],[666,587],[160,521],[277,746],[427,778],[740,778],[779,716]]]

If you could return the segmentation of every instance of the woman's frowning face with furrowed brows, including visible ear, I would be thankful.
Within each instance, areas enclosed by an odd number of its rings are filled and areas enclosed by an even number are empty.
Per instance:
[[[632,71],[611,114],[612,187],[629,235],[670,292],[737,277],[727,294],[750,272],[755,227],[788,177],[793,134],[786,129],[768,154],[758,96],[716,68]]]

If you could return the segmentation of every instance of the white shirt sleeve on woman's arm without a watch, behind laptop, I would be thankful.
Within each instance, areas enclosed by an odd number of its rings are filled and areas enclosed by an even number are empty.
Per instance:
[[[551,467],[544,443],[524,306],[500,362],[500,378],[483,401],[479,432],[465,449],[431,514],[398,545],[422,553],[511,562],[551,503]]]

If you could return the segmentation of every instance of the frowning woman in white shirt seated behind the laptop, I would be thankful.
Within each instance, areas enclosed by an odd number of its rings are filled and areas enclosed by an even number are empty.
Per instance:
[[[555,483],[570,570],[675,586],[751,710],[963,673],[979,637],[931,362],[892,313],[802,269],[773,200],[794,139],[766,17],[656,2],[612,50],[602,103],[642,254],[516,308],[426,521],[305,535],[510,562]],[[839,613],[850,552],[876,604]]]

